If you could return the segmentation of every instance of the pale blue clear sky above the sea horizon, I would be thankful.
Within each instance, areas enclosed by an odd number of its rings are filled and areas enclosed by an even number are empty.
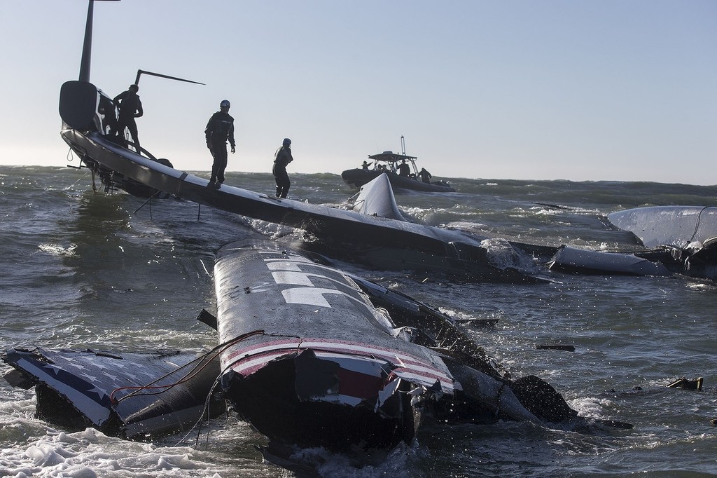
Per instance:
[[[78,164],[60,138],[87,0],[0,0],[0,164]],[[95,2],[90,81],[143,76],[143,147],[211,169],[204,128],[232,102],[228,171],[418,157],[434,177],[717,184],[714,0]]]

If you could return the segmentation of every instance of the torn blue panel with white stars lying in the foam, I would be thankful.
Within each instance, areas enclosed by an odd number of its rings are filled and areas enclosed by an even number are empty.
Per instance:
[[[14,348],[3,356],[14,367],[6,380],[36,388],[40,418],[128,439],[186,431],[204,416],[219,365],[196,359],[179,352],[42,348]],[[220,413],[222,403],[214,405]]]

